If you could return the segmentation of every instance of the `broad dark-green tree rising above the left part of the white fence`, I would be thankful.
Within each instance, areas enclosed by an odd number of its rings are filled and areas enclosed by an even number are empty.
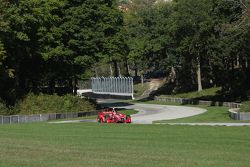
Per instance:
[[[123,55],[123,18],[115,5],[114,0],[68,2],[60,28],[74,79],[100,60],[116,65]],[[117,76],[117,68],[115,71]]]

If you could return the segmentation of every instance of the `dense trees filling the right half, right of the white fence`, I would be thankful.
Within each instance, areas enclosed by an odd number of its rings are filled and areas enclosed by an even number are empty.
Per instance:
[[[250,89],[249,0],[134,0],[126,14],[129,58],[142,74],[167,72],[168,92]]]

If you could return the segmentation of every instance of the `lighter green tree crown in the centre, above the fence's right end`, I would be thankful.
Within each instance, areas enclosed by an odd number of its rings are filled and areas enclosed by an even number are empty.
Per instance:
[[[163,60],[171,57],[168,25],[171,9],[170,3],[134,1],[126,14],[129,58],[135,64],[136,75],[138,69],[147,72],[168,67]]]

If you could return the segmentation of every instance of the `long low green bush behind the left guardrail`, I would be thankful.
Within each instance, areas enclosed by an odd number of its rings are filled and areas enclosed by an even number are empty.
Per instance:
[[[73,95],[28,94],[16,105],[16,108],[20,114],[39,114],[93,111],[95,105]]]

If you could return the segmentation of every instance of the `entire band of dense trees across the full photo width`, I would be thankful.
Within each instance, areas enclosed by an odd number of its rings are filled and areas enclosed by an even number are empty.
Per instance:
[[[0,0],[0,99],[154,72],[165,93],[221,86],[247,99],[249,43],[249,0]]]

